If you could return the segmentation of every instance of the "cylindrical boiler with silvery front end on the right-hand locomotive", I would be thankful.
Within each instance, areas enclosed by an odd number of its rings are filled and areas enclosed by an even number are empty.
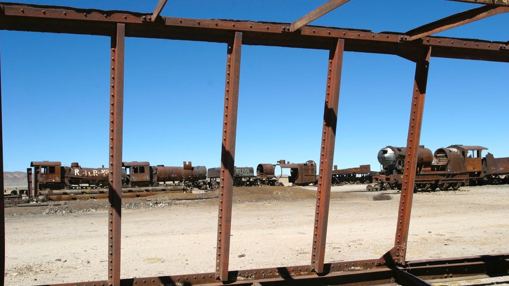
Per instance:
[[[387,171],[387,175],[399,174],[405,166],[406,147],[387,146],[378,152],[378,162]],[[433,153],[424,146],[419,146],[417,152],[417,171],[431,167]]]

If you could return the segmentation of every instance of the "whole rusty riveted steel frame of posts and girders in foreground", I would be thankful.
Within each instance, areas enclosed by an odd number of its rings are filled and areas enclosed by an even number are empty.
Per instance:
[[[303,26],[294,32],[288,23],[261,23],[182,19],[159,16],[165,1],[153,14],[99,11],[23,4],[0,3],[0,28],[13,31],[107,35],[111,37],[109,216],[107,280],[54,285],[160,285],[182,283],[251,285],[267,284],[386,284],[428,285],[423,279],[457,278],[473,275],[508,275],[509,253],[469,258],[407,262],[405,259],[415,180],[416,156],[422,124],[426,83],[431,56],[509,62],[506,42],[421,37],[410,41],[408,34],[372,33],[330,27]],[[218,206],[216,271],[189,275],[120,279],[121,168],[123,132],[123,85],[125,37],[146,37],[228,43],[221,149],[221,178]],[[324,108],[315,233],[310,265],[242,271],[229,270],[232,216],[233,168],[242,44],[327,49],[329,66]],[[394,247],[381,258],[324,263],[330,202],[330,176],[334,155],[337,105],[343,52],[396,54],[416,63],[410,108],[405,160],[405,181],[400,197]],[[1,84],[1,83],[0,83]],[[0,91],[1,99],[1,91]],[[0,101],[1,110],[1,101]],[[2,136],[0,113],[0,136]],[[0,141],[3,154],[3,140]],[[3,171],[3,155],[0,171]],[[3,186],[3,177],[0,178]],[[4,198],[2,197],[2,200]],[[2,208],[2,215],[4,209]],[[5,222],[2,220],[5,258]],[[412,267],[409,267],[411,265]],[[5,270],[5,260],[3,261]]]

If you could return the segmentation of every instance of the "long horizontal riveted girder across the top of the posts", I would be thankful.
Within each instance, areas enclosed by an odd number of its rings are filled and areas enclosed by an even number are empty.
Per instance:
[[[319,26],[290,32],[289,23],[204,20],[158,17],[124,11],[0,4],[3,30],[109,36],[116,23],[126,24],[126,37],[227,43],[231,32],[243,32],[244,45],[329,49],[331,39],[345,39],[345,50],[384,54],[412,54],[432,46],[432,56],[509,62],[506,42],[423,37],[410,42],[404,33],[373,33]]]

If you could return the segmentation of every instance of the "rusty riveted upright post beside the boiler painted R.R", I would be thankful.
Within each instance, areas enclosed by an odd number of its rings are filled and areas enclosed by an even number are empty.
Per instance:
[[[108,285],[120,285],[120,237],[122,207],[122,133],[124,113],[125,25],[117,24],[111,35],[109,104],[109,222]]]

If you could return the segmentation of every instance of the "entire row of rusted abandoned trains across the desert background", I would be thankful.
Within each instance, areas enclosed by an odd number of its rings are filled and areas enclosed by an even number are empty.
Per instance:
[[[494,158],[487,148],[453,145],[431,150],[419,147],[417,173],[414,189],[458,189],[478,184],[509,183],[509,158]],[[387,146],[378,153],[382,171],[372,171],[370,165],[332,171],[332,184],[370,183],[366,189],[401,189],[406,148]],[[192,166],[184,162],[182,167],[157,165],[149,162],[122,163],[123,192],[216,189],[219,187],[220,168]],[[105,193],[109,176],[108,168],[82,168],[78,163],[62,166],[61,162],[32,162],[27,169],[28,189],[13,190],[11,194]],[[235,167],[234,186],[275,186],[280,184],[282,169],[289,168],[288,182],[293,185],[317,183],[317,166],[314,161],[290,163],[280,160],[276,164],[259,164],[253,167]],[[32,176],[33,170],[33,176]],[[33,181],[33,182],[32,182]],[[371,183],[374,183],[373,185]],[[33,190],[33,191],[32,191]]]

